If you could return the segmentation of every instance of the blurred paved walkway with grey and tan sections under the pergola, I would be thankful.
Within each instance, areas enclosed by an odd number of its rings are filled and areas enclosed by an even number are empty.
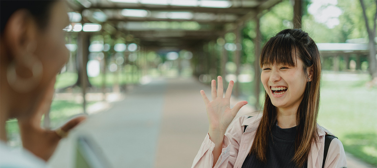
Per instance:
[[[199,91],[210,87],[193,79],[155,80],[127,92],[109,110],[92,114],[58,146],[52,168],[71,168],[77,135],[100,145],[115,168],[188,168],[208,131]],[[231,99],[231,106],[237,100]],[[255,111],[247,105],[238,115]],[[366,168],[348,157],[348,168]],[[350,160],[351,159],[351,160]]]

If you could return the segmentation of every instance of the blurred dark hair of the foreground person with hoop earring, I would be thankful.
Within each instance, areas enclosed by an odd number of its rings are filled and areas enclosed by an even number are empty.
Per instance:
[[[0,1],[0,33],[2,34],[11,15],[19,10],[26,9],[34,17],[39,28],[43,29],[49,21],[49,12],[55,0],[1,0]]]

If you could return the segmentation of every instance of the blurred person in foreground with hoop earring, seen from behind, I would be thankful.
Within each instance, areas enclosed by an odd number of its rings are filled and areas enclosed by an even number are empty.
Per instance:
[[[85,119],[57,130],[40,126],[54,94],[55,77],[69,59],[63,28],[66,1],[0,1],[0,167],[44,167],[58,142]],[[7,144],[6,121],[17,118],[23,148]]]

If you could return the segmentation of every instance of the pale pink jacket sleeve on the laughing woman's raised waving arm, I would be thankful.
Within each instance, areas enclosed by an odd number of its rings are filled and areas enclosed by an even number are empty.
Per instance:
[[[204,141],[196,154],[192,168],[233,168],[234,162],[236,162],[239,142],[243,133],[242,122],[247,116],[241,116],[233,121],[225,132],[224,141],[222,143],[222,151],[217,160],[215,166],[213,166],[213,148],[215,143],[210,140],[207,133]]]

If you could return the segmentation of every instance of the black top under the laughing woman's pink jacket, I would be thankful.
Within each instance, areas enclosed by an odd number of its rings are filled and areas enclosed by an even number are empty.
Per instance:
[[[256,155],[248,155],[242,168],[298,168],[292,160],[294,156],[294,140],[296,127],[280,128],[277,124],[272,128],[272,137],[268,138],[267,162],[260,162]],[[307,162],[302,168],[307,168]]]

